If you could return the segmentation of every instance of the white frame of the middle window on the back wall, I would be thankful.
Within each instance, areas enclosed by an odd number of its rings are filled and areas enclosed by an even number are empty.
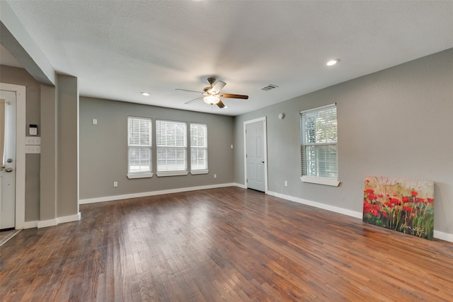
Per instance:
[[[184,146],[164,146],[159,144],[160,139],[160,132],[159,129],[161,127],[160,123],[161,122],[168,122],[168,123],[174,123],[174,124],[183,124],[184,125],[184,134],[181,136],[183,138]],[[178,176],[178,175],[188,175],[188,147],[187,147],[187,122],[181,122],[181,121],[172,121],[172,120],[156,120],[156,175],[159,177],[162,176]],[[174,150],[183,150],[184,151],[184,165],[185,168],[184,170],[159,170],[159,151],[162,150],[168,150],[168,149],[174,149]]]

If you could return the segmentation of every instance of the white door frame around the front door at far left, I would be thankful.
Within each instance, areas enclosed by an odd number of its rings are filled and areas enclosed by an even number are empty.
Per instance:
[[[21,85],[0,83],[0,90],[16,93],[16,230],[25,224],[25,114],[26,91]]]

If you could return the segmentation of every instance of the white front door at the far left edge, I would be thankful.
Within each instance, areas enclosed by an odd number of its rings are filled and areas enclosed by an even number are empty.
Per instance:
[[[0,229],[15,227],[16,92],[0,91]]]

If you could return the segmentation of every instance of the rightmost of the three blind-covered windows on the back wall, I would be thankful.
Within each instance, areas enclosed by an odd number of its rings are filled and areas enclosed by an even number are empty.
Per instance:
[[[206,174],[207,170],[207,125],[190,124],[190,173]]]

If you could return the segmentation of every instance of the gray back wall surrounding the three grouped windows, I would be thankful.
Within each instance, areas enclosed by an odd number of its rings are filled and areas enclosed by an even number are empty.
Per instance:
[[[153,129],[156,119],[207,124],[209,174],[161,178],[154,174],[152,178],[127,179],[128,115],[151,117]],[[93,124],[93,119],[98,124]],[[80,199],[231,183],[234,180],[231,164],[234,150],[230,148],[234,141],[233,127],[233,117],[81,97]],[[155,141],[153,132],[153,167],[156,166]],[[113,187],[115,181],[118,187]]]

